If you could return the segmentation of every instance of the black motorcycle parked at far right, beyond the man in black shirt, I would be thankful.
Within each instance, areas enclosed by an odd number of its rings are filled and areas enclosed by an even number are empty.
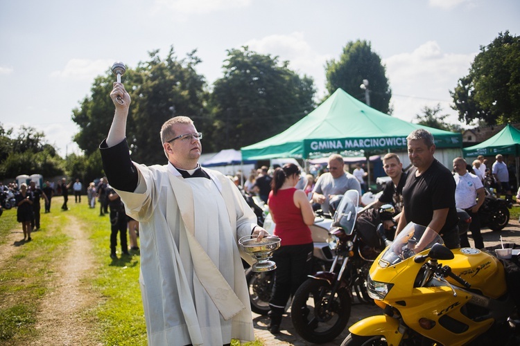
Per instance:
[[[486,196],[483,205],[478,209],[480,226],[488,227],[490,230],[503,230],[509,224],[509,208],[511,203],[505,199],[496,197],[489,188],[485,188]]]

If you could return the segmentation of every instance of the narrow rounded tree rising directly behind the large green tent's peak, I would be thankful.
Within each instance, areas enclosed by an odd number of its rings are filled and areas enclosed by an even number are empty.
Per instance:
[[[383,113],[391,113],[392,91],[386,78],[381,57],[372,52],[370,42],[365,40],[348,42],[338,61],[330,60],[325,67],[329,94],[343,89],[358,100],[365,100],[365,91],[360,86],[368,81],[370,107]]]

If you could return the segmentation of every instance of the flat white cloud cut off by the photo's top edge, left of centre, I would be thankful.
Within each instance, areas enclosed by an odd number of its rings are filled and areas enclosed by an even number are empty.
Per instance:
[[[160,11],[162,8],[168,8],[173,12],[201,14],[247,7],[251,3],[252,0],[157,0],[154,10]]]

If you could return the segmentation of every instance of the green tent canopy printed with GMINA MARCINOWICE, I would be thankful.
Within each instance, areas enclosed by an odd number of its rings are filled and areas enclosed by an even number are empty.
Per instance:
[[[241,148],[244,160],[310,158],[330,152],[406,151],[406,136],[417,128],[431,131],[437,148],[462,148],[462,134],[413,124],[376,111],[342,89],[308,116],[271,138]]]

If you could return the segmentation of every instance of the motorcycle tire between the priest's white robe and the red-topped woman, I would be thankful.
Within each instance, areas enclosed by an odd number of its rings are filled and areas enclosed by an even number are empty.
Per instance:
[[[252,271],[252,268],[248,268],[245,271],[245,280],[248,282],[251,310],[259,315],[267,316],[275,277],[272,273],[257,273]]]

